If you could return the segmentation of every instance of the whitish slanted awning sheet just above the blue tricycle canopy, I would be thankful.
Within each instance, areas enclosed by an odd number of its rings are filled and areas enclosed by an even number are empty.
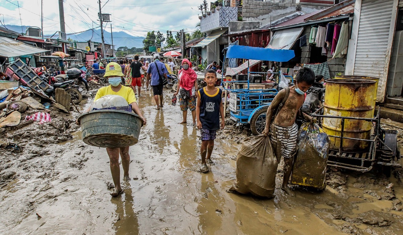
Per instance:
[[[281,29],[274,32],[270,40],[270,48],[290,49],[301,35],[303,28]]]

